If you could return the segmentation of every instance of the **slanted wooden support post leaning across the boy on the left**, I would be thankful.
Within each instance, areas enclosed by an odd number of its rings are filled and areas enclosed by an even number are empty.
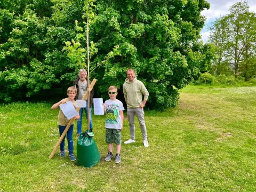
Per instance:
[[[93,86],[94,86],[94,84],[95,84],[96,82],[97,82],[97,79],[93,79],[92,83],[90,84],[90,87],[87,89],[87,91],[86,91],[86,93],[84,94],[84,97],[83,97],[82,100],[85,100],[85,99],[88,97],[89,92],[92,91]],[[80,110],[80,108],[76,108],[76,111],[77,111],[77,112],[78,112],[79,110]],[[70,125],[74,122],[74,119],[75,119],[75,117],[73,117],[73,118],[71,118],[71,119],[69,120],[68,125],[66,126],[66,129],[63,131],[62,135],[60,136],[60,139],[58,140],[58,142],[56,143],[55,147],[53,148],[53,151],[52,151],[52,153],[51,153],[51,155],[50,155],[49,158],[52,158],[53,155],[55,154],[55,152],[57,151],[58,147],[60,146],[60,143],[61,143],[62,139],[65,137],[66,133],[68,132],[68,129],[69,129]]]

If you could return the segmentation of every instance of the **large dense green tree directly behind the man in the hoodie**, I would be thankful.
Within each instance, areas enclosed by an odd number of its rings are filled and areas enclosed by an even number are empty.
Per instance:
[[[91,33],[97,42],[95,67],[119,46],[120,56],[94,71],[99,92],[106,85],[121,88],[126,70],[134,68],[149,89],[150,108],[175,106],[178,89],[205,71],[210,63],[208,45],[198,42],[204,25],[200,14],[205,1],[100,1]]]

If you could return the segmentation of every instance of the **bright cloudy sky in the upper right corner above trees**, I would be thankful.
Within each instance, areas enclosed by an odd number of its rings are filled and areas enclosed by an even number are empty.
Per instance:
[[[202,15],[206,16],[205,26],[201,31],[202,39],[204,42],[207,42],[209,36],[209,30],[207,27],[211,25],[211,22],[215,21],[216,18],[226,15],[229,13],[229,7],[234,5],[239,0],[206,0],[210,3],[210,9],[204,10],[201,12]],[[256,0],[248,0],[250,6],[250,11],[256,12]]]

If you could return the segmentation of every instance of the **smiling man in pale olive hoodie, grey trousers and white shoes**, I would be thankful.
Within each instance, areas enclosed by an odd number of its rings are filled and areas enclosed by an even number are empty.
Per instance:
[[[140,123],[140,130],[143,137],[143,145],[148,147],[148,136],[147,128],[144,120],[143,107],[146,105],[148,99],[148,90],[145,85],[135,77],[133,69],[128,69],[126,71],[127,78],[123,84],[124,99],[127,104],[127,117],[130,126],[130,139],[125,141],[125,144],[135,142],[135,126],[134,126],[134,116],[138,117]],[[144,99],[142,101],[142,94]]]

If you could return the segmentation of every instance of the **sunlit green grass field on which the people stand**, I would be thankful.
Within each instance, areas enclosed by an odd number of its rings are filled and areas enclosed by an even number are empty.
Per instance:
[[[149,148],[136,122],[136,142],[122,145],[121,163],[101,161],[90,169],[59,152],[49,159],[59,137],[52,104],[0,107],[1,192],[256,191],[256,87],[190,85],[180,92],[178,107],[146,111]],[[103,159],[104,116],[93,115],[93,123]]]

